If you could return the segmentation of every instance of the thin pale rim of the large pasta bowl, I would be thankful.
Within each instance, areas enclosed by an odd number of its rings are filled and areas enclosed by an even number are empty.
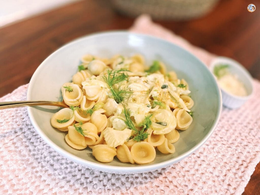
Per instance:
[[[36,71],[34,72],[33,76],[31,77],[31,80],[29,82],[28,85],[28,90],[27,90],[27,100],[31,100],[30,99],[30,94],[32,93],[32,83],[34,82],[34,80],[36,79],[36,74],[38,72],[40,72],[40,69],[42,66],[44,66],[44,64],[46,63],[46,61],[48,61],[48,59],[50,59],[52,56],[56,55],[57,52],[59,52],[60,50],[62,50],[63,48],[68,47],[70,44],[75,44],[76,42],[81,42],[82,40],[86,39],[86,38],[93,38],[93,37],[99,37],[99,36],[104,36],[104,35],[112,35],[112,34],[120,34],[120,35],[125,35],[125,36],[130,36],[130,35],[135,35],[135,36],[139,36],[139,37],[148,37],[148,38],[152,38],[152,39],[156,39],[158,41],[161,42],[165,42],[167,44],[172,44],[176,47],[178,47],[180,50],[183,50],[186,53],[189,53],[189,55],[192,55],[194,58],[196,58],[201,64],[202,66],[204,66],[208,71],[208,73],[210,75],[211,72],[209,70],[209,68],[207,68],[207,66],[198,59],[198,57],[196,57],[195,55],[193,55],[192,53],[190,53],[189,51],[187,51],[186,49],[178,46],[177,44],[174,44],[170,41],[164,40],[162,38],[158,38],[158,37],[154,37],[151,35],[146,35],[146,34],[140,34],[140,33],[133,33],[131,31],[126,31],[126,30],[113,30],[113,31],[102,31],[99,33],[92,33],[92,34],[88,34],[79,38],[76,38],[66,44],[64,44],[63,46],[61,46],[60,48],[58,48],[57,50],[55,50],[53,53],[51,53],[36,69]],[[59,147],[58,145],[56,145],[53,141],[51,141],[51,139],[44,134],[41,131],[41,128],[38,126],[36,120],[34,119],[33,116],[33,112],[32,112],[32,107],[28,107],[28,115],[29,118],[34,126],[34,128],[36,129],[37,133],[41,136],[41,138],[51,147],[53,148],[56,152],[58,152],[59,154],[61,154],[63,157],[68,158],[78,164],[81,164],[85,167],[91,168],[93,170],[97,170],[97,171],[103,171],[103,172],[108,172],[108,173],[118,173],[118,174],[134,174],[134,173],[145,173],[145,172],[149,172],[149,171],[154,171],[154,170],[159,170],[161,168],[167,167],[169,165],[173,165],[176,162],[179,162],[180,160],[188,157],[189,155],[191,155],[192,153],[194,153],[198,148],[200,148],[208,139],[209,137],[212,135],[214,129],[217,126],[217,123],[220,119],[220,114],[222,111],[222,95],[221,95],[221,91],[217,85],[217,81],[215,79],[213,79],[213,82],[215,82],[215,85],[217,86],[217,96],[218,96],[218,112],[216,113],[216,119],[214,120],[211,129],[209,130],[209,132],[204,136],[204,138],[197,143],[193,148],[191,148],[189,151],[179,155],[176,158],[172,158],[170,160],[166,160],[157,164],[145,164],[145,165],[141,165],[141,166],[123,166],[123,167],[119,167],[119,166],[114,166],[114,165],[107,165],[105,163],[101,163],[101,162],[92,162],[92,161],[88,161],[85,159],[82,159],[80,157],[77,157],[76,155],[73,155],[71,153],[69,153],[68,151],[66,151],[65,149],[62,149],[61,147]]]

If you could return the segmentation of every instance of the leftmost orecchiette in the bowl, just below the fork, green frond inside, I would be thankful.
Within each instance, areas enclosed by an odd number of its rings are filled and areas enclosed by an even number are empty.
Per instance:
[[[53,127],[58,128],[60,131],[63,131],[63,129],[67,130],[67,127],[72,125],[72,123],[75,120],[75,116],[73,111],[70,108],[63,108],[56,112],[52,117],[51,117],[51,125]],[[66,122],[58,122],[58,121],[66,121]]]

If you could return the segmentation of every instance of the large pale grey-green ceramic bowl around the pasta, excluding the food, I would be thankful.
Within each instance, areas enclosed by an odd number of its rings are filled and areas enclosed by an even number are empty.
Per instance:
[[[157,152],[155,160],[146,165],[120,162],[98,162],[92,150],[76,150],[67,145],[60,132],[50,124],[51,116],[60,108],[51,106],[28,107],[29,116],[39,135],[64,157],[89,168],[113,173],[141,173],[166,167],[189,156],[210,137],[221,112],[222,102],[216,80],[209,69],[186,50],[159,38],[129,32],[107,32],[79,38],[51,54],[35,71],[28,87],[28,100],[62,101],[61,86],[72,80],[84,54],[112,57],[142,54],[147,64],[153,60],[164,62],[168,70],[175,70],[179,78],[189,83],[194,100],[193,122],[189,129],[180,131],[174,143],[176,152],[164,155]]]

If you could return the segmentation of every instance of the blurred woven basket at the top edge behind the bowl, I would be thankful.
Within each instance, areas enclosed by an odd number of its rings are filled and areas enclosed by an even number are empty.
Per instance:
[[[121,14],[149,14],[155,20],[190,20],[211,11],[219,0],[110,0]]]

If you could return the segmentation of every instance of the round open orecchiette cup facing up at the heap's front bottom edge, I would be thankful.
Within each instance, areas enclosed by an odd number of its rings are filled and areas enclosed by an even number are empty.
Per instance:
[[[140,165],[152,162],[156,156],[154,147],[145,141],[134,143],[130,153],[134,162]]]

